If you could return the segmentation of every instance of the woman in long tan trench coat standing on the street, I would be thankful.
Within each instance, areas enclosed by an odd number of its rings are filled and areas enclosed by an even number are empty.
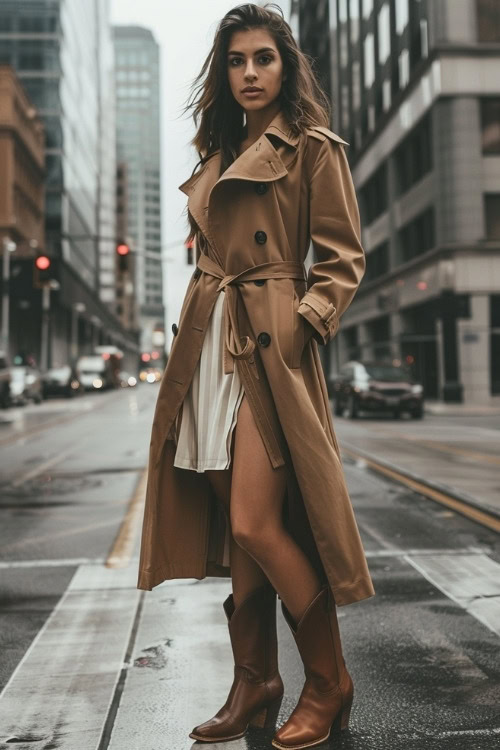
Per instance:
[[[227,13],[197,83],[201,168],[181,185],[197,268],[155,411],[138,586],[232,578],[234,681],[202,742],[274,726],[277,592],[307,677],[273,745],[311,747],[352,704],[336,605],[374,593],[318,354],[364,272],[358,207],[280,14]]]

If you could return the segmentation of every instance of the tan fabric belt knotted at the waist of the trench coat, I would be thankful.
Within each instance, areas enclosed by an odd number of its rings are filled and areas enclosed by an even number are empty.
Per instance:
[[[201,253],[197,267],[204,273],[220,279],[217,291],[224,289],[223,328],[224,328],[224,373],[234,371],[235,359],[251,357],[255,343],[249,336],[240,336],[236,323],[237,285],[257,279],[303,279],[307,280],[303,263],[292,260],[278,260],[250,266],[236,274],[226,274],[224,269],[205,253]],[[242,344],[241,342],[244,343]],[[231,355],[231,356],[228,356]]]

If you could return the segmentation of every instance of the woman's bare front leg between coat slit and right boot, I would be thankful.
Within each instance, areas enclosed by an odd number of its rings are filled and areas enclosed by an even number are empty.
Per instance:
[[[238,412],[231,463],[232,536],[235,547],[239,546],[246,553],[246,557],[242,557],[241,552],[235,550],[233,558],[231,547],[231,567],[235,560],[233,586],[236,573],[238,586],[240,576],[245,581],[250,576],[250,588],[255,588],[259,585],[257,571],[260,569],[298,622],[319,593],[320,581],[307,556],[283,526],[286,469],[271,466],[246,396]],[[253,558],[255,567],[248,557]]]

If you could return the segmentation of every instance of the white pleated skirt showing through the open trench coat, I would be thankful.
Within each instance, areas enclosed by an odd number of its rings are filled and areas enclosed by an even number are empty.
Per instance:
[[[203,340],[201,356],[183,401],[174,466],[202,472],[231,465],[231,437],[244,395],[236,363],[224,373],[222,309],[217,296]]]

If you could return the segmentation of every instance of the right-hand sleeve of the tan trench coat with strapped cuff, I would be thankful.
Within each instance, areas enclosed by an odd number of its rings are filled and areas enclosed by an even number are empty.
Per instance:
[[[327,344],[337,333],[365,271],[358,203],[342,144],[326,137],[310,182],[310,233],[317,262],[309,269],[298,312]]]

